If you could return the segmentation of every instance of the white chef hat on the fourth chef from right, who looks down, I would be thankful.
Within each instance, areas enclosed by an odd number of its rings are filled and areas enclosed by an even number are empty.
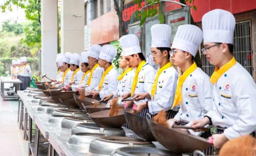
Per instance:
[[[124,35],[120,38],[124,56],[141,53],[139,39],[134,34]]]

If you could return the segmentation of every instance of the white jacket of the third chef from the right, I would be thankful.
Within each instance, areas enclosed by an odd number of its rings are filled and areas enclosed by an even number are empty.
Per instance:
[[[163,109],[164,111],[167,111],[172,108],[177,80],[178,73],[173,66],[161,72],[158,77],[154,98],[152,101],[148,101],[148,110],[150,114],[157,114]],[[172,110],[178,111],[178,107],[174,107]]]

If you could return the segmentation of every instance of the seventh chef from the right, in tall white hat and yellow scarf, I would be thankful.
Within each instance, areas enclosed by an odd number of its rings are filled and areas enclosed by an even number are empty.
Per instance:
[[[101,68],[98,64],[101,48],[102,47],[100,45],[93,44],[90,47],[90,50],[88,53],[88,64],[91,71],[87,81],[88,87],[85,88],[85,91],[88,92],[86,94],[91,94],[91,92],[89,91],[93,90],[95,87],[97,87],[100,84],[100,80],[104,72],[104,69]]]

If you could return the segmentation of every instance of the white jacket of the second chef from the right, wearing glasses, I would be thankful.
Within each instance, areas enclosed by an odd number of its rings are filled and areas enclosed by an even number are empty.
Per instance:
[[[210,78],[201,68],[196,68],[183,82],[182,104],[174,118],[182,122],[202,119],[212,105]]]

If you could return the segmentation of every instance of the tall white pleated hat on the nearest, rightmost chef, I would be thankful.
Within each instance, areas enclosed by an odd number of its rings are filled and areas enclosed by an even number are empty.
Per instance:
[[[215,9],[204,14],[202,28],[204,42],[233,44],[236,20],[234,16],[222,9]]]

